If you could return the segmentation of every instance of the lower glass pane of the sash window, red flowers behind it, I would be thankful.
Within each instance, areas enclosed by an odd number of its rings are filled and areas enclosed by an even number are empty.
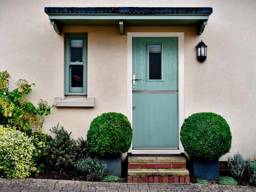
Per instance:
[[[71,65],[71,87],[83,87],[82,65]]]

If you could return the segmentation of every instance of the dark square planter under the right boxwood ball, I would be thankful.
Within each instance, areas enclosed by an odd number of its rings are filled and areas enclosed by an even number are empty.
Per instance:
[[[219,159],[197,159],[190,158],[192,166],[192,175],[194,177],[201,177],[205,180],[216,179],[219,176]]]

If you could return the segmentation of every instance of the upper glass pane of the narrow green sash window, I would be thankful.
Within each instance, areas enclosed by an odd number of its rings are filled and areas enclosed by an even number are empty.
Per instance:
[[[83,40],[71,40],[70,62],[83,61]]]

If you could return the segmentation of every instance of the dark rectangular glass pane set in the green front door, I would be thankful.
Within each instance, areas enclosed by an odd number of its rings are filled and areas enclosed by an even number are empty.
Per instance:
[[[161,79],[161,45],[149,45],[149,79]]]

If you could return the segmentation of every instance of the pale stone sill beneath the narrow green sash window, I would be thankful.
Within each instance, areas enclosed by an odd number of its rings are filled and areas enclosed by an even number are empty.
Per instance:
[[[95,98],[65,98],[55,97],[56,107],[94,107]]]

